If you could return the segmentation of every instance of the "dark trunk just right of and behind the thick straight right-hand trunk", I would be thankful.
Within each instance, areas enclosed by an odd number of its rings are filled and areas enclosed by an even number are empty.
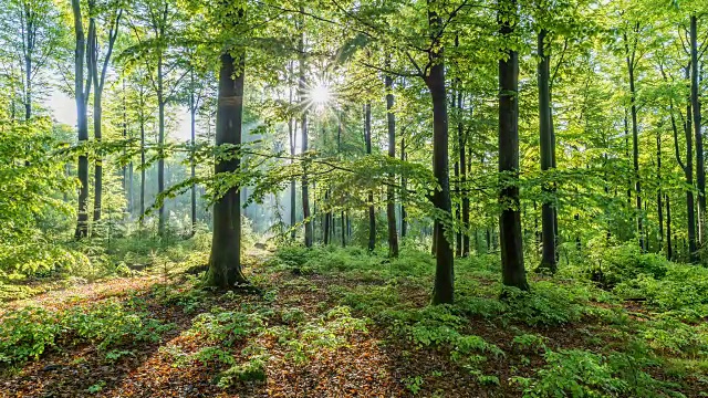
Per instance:
[[[551,133],[551,59],[545,53],[545,38],[548,31],[541,29],[538,34],[539,51],[539,130],[541,143],[541,170],[548,171],[553,168],[553,144]],[[550,182],[543,184],[543,192],[546,200],[541,206],[541,264],[539,269],[549,270],[555,273],[558,262],[555,256],[555,228],[553,218],[553,203],[550,199],[553,193],[553,186]]]

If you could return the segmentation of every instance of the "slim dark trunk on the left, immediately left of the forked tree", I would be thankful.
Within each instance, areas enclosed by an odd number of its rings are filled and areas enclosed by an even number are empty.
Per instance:
[[[72,0],[72,11],[74,15],[74,32],[76,35],[76,48],[74,50],[74,94],[76,97],[76,129],[79,144],[83,145],[88,140],[88,122],[86,117],[86,95],[84,93],[84,56],[86,39],[84,36],[83,20],[81,15],[80,0]],[[88,156],[82,153],[79,156],[79,209],[76,219],[76,239],[88,235]]]

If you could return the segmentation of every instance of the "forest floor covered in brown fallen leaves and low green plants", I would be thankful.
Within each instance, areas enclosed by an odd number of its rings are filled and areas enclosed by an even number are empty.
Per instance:
[[[246,272],[259,294],[204,290],[180,271],[9,302],[0,329],[43,346],[12,348],[27,358],[6,359],[0,396],[708,396],[706,342],[671,341],[706,338],[706,320],[676,328],[636,301],[541,276],[523,304],[501,302],[494,266],[473,259],[456,272],[458,303],[431,307],[426,256],[256,251]]]

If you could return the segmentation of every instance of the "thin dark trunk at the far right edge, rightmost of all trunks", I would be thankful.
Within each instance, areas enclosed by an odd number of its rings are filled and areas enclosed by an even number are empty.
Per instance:
[[[696,184],[698,186],[698,242],[702,245],[706,238],[706,168],[704,161],[704,138],[700,121],[699,70],[698,70],[698,29],[697,17],[690,17],[690,103],[696,136]],[[686,117],[689,117],[686,115]]]

